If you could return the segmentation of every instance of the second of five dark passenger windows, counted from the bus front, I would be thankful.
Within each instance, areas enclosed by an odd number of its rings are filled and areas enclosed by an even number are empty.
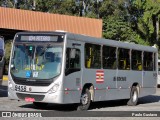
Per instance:
[[[116,69],[116,48],[103,46],[103,68]]]

